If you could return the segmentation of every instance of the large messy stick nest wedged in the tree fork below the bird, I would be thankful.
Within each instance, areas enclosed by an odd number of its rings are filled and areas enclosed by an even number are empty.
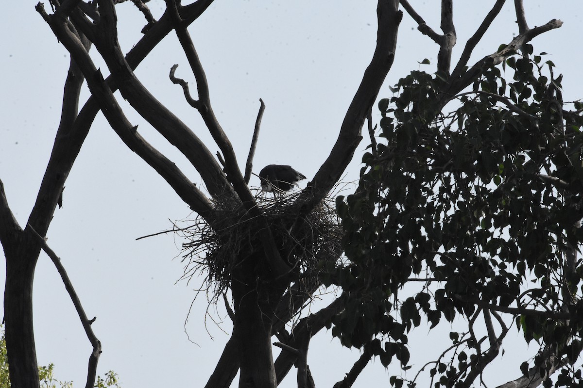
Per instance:
[[[296,280],[315,277],[326,262],[338,261],[342,227],[331,198],[300,218],[297,207],[292,206],[299,192],[276,197],[261,194],[255,200]],[[263,251],[259,232],[265,225],[263,220],[248,215],[240,203],[217,202],[215,210],[219,217],[212,227],[197,217],[192,225],[178,232],[186,240],[182,244],[182,260],[188,260],[182,279],[205,274],[205,288],[213,291],[213,299],[229,287],[238,262]]]

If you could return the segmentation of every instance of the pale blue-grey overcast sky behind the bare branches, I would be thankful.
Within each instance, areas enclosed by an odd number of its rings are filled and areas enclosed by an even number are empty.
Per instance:
[[[411,1],[436,31],[440,24],[438,3]],[[493,3],[454,3],[458,34],[454,59]],[[35,1],[12,1],[0,13],[0,179],[21,226],[26,224],[50,156],[69,66],[68,54],[34,5]],[[164,2],[153,0],[148,6],[157,18]],[[270,163],[279,163],[292,165],[308,180],[314,175],[336,140],[346,108],[373,54],[375,8],[376,2],[371,0],[217,0],[192,24],[189,31],[206,70],[213,107],[241,167],[262,98],[266,111],[255,172]],[[539,36],[532,44],[535,53],[549,52],[547,58],[565,74],[564,98],[583,97],[583,5],[578,0],[526,0],[525,8],[530,27],[554,18],[563,20],[563,27]],[[118,5],[117,11],[120,42],[127,52],[141,37],[139,31],[145,20],[131,2]],[[514,20],[513,2],[508,1],[470,63],[510,42],[518,33]],[[410,70],[433,73],[436,56],[437,46],[420,34],[405,14],[395,64],[380,97],[390,97],[387,86]],[[431,65],[419,65],[424,58],[430,59]],[[210,141],[198,113],[184,101],[181,88],[168,79],[174,63],[180,65],[177,76],[194,88],[194,77],[172,33],[136,74],[198,136]],[[107,75],[106,67],[100,66]],[[85,87],[82,102],[88,94]],[[126,113],[132,123],[139,125],[142,136],[173,159],[193,181],[200,181],[185,158],[145,120],[131,109]],[[377,111],[373,111],[373,118],[380,118]],[[357,179],[360,155],[367,144],[365,139],[343,180]],[[216,145],[209,148],[213,153],[217,151]],[[302,183],[305,185],[305,181]],[[251,186],[259,186],[257,178],[251,180]],[[224,318],[224,307],[210,306],[209,315],[205,315],[209,306],[203,293],[192,305],[185,325],[200,281],[175,284],[182,275],[182,241],[172,234],[135,241],[137,237],[170,229],[175,220],[192,216],[166,182],[129,151],[103,116],[98,115],[66,182],[63,208],[55,212],[47,237],[50,247],[61,257],[87,315],[97,316],[93,329],[103,344],[99,373],[113,369],[124,388],[201,387],[229,339],[231,325],[229,318]],[[2,289],[4,271],[2,266]],[[217,326],[211,317],[222,323]],[[75,386],[84,385],[90,343],[57,270],[44,254],[34,283],[34,324],[38,362],[54,362],[57,378],[73,380]],[[195,343],[188,340],[185,329]],[[447,338],[448,329],[434,334],[422,326],[410,336],[415,337],[410,344],[413,373],[438,357],[443,343],[440,337]],[[518,333],[509,337],[507,341],[512,341],[504,346],[506,354],[490,369],[495,372],[487,380],[491,386],[519,376],[522,359],[512,354],[519,355],[526,347]],[[323,331],[310,344],[308,364],[316,385],[331,387],[358,357],[357,351],[340,347],[339,341]],[[380,362],[371,362],[355,386],[389,386],[388,376],[397,371],[398,366],[389,367],[387,372]],[[294,374],[295,369],[282,386],[296,386]]]

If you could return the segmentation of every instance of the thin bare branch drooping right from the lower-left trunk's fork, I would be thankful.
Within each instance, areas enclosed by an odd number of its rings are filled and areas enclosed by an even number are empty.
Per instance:
[[[89,356],[89,366],[87,368],[87,383],[85,384],[85,388],[93,388],[95,385],[95,378],[97,375],[97,362],[99,361],[99,355],[101,354],[101,341],[97,339],[95,333],[93,333],[93,329],[91,327],[91,323],[95,321],[95,318],[89,320],[87,315],[85,314],[85,310],[81,305],[81,301],[79,300],[79,296],[75,292],[75,288],[73,288],[73,284],[71,283],[71,279],[67,275],[65,267],[61,263],[61,259],[55,254],[53,250],[47,245],[45,239],[33,229],[33,227],[29,224],[28,225],[30,231],[37,236],[38,243],[40,244],[43,251],[51,258],[51,261],[57,267],[59,275],[61,275],[61,279],[63,284],[65,284],[65,289],[69,293],[69,297],[71,297],[71,301],[73,305],[75,305],[75,310],[79,315],[79,319],[81,320],[81,324],[83,325],[83,329],[85,329],[85,334],[87,335],[87,339],[93,346],[93,351]]]

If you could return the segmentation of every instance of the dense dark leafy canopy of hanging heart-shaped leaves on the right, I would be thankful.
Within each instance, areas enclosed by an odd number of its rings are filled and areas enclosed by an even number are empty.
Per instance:
[[[540,345],[525,378],[551,386],[546,374],[562,366],[555,386],[583,383],[583,104],[563,101],[545,53],[524,51],[455,96],[444,72],[399,80],[378,104],[356,193],[336,203],[348,261],[325,280],[346,299],[332,333],[406,370],[422,318],[433,329],[465,317],[429,368],[436,388],[471,384],[514,326]]]

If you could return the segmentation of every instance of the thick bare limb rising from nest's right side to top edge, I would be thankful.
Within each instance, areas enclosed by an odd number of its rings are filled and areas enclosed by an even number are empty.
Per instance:
[[[378,2],[377,47],[373,59],[365,70],[360,86],[346,111],[338,139],[330,155],[297,200],[302,213],[310,212],[328,195],[352,160],[354,150],[362,139],[361,129],[366,115],[373,106],[395,58],[397,32],[403,17],[398,8],[398,0]]]

